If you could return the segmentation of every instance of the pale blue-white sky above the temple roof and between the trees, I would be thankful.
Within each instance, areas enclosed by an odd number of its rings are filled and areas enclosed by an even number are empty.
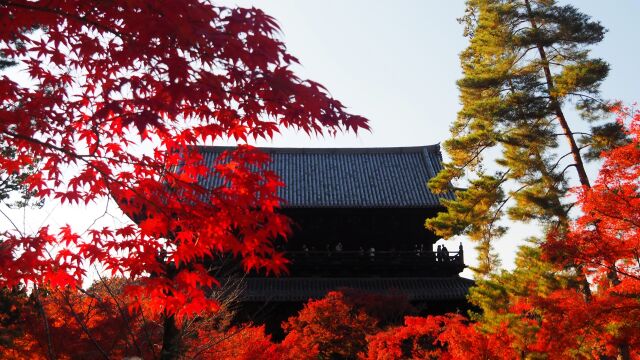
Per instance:
[[[461,77],[458,54],[467,44],[462,25],[464,1],[432,0],[262,0],[224,1],[255,6],[275,17],[290,53],[302,63],[298,74],[325,85],[352,113],[370,119],[372,131],[355,136],[309,138],[286,132],[261,146],[388,147],[434,144],[448,137],[460,108],[455,81]],[[602,86],[605,97],[626,103],[640,100],[637,63],[640,1],[580,0],[572,4],[609,29],[593,54],[611,64]],[[446,156],[446,155],[445,155]],[[595,170],[592,167],[591,177]],[[25,228],[41,224],[88,226],[104,205],[61,208],[49,203],[20,216]],[[14,214],[15,215],[15,214]],[[120,220],[107,216],[108,222]],[[22,226],[22,224],[19,224]],[[0,220],[0,230],[8,226]],[[536,233],[517,225],[497,243],[506,268],[516,247]],[[447,243],[457,246],[456,239]],[[465,241],[466,244],[466,241]],[[475,255],[466,244],[466,262]],[[465,272],[465,275],[469,275]]]

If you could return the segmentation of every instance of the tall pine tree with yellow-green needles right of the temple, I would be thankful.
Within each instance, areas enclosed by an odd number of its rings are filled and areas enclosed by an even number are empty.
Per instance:
[[[625,139],[602,120],[611,106],[599,93],[609,65],[588,49],[604,36],[600,23],[552,0],[468,0],[461,21],[470,41],[460,55],[462,109],[444,143],[451,160],[429,186],[445,192],[468,183],[426,226],[478,241],[482,277],[497,268],[491,241],[506,230],[505,216],[563,228],[570,174],[590,186],[584,159]],[[572,131],[569,105],[590,131]]]

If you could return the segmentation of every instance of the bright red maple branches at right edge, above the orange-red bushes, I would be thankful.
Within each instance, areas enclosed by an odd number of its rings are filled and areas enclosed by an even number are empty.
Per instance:
[[[624,278],[640,276],[640,112],[621,109],[618,114],[630,143],[602,154],[593,187],[576,190],[582,216],[565,238],[552,236],[547,246],[554,260],[584,265],[605,286],[611,270]]]

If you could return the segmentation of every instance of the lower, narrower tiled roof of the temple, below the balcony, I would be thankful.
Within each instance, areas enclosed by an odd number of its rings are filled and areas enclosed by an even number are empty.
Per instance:
[[[243,301],[307,301],[329,291],[354,289],[403,294],[409,301],[465,300],[474,282],[448,278],[245,278]]]

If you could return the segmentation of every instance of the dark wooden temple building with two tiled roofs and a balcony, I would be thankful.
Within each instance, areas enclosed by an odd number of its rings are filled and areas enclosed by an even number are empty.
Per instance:
[[[200,151],[213,165],[227,149]],[[243,278],[247,318],[277,333],[303,303],[340,289],[402,294],[423,314],[468,308],[462,246],[436,252],[424,227],[443,210],[427,188],[442,167],[439,145],[262,150],[286,184],[279,195],[293,234],[282,250],[291,264],[287,276]]]

